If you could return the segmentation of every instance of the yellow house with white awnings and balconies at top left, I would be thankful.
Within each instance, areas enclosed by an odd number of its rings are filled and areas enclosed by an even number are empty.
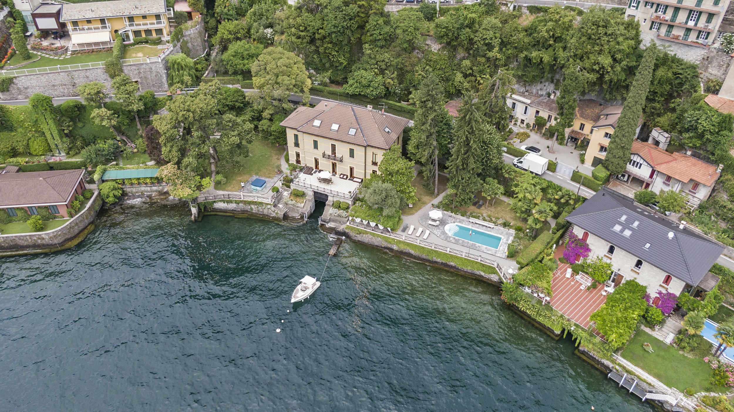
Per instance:
[[[84,50],[112,47],[118,33],[125,41],[137,37],[168,40],[172,15],[165,0],[115,0],[63,4],[60,21],[71,36],[71,50]]]

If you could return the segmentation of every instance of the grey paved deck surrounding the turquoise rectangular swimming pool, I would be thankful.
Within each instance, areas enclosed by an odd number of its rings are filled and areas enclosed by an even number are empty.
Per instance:
[[[430,210],[426,210],[424,213],[421,213],[420,216],[418,216],[418,222],[420,222],[424,228],[430,229],[431,233],[436,235],[438,238],[446,240],[450,243],[454,243],[456,245],[466,246],[469,250],[482,251],[486,254],[491,254],[496,257],[507,257],[507,246],[512,243],[512,239],[515,238],[515,230],[494,226],[489,222],[478,221],[473,218],[457,216],[444,210],[442,210],[443,218],[441,218],[438,226],[433,226],[428,224],[430,220],[429,211]],[[455,238],[454,236],[451,236],[446,232],[446,225],[451,223],[461,224],[472,229],[479,229],[483,232],[497,235],[502,238],[502,240],[500,241],[498,249],[493,249],[488,246],[480,245],[479,243],[470,242],[469,240]]]

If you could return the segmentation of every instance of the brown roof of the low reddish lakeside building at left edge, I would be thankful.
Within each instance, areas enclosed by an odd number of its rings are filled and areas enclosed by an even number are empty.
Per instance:
[[[0,174],[0,207],[68,202],[84,170]]]

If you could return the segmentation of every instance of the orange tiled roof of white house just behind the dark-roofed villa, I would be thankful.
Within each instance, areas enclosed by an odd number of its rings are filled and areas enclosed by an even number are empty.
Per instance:
[[[683,183],[695,180],[702,185],[711,186],[719,179],[716,166],[683,153],[669,153],[655,144],[639,140],[632,141],[632,152],[650,163],[658,172],[675,177]]]

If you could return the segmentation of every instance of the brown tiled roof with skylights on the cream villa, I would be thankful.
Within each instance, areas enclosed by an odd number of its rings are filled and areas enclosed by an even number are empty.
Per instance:
[[[321,121],[317,127],[314,122]],[[408,125],[408,119],[341,103],[323,101],[314,108],[301,106],[286,117],[281,126],[321,136],[346,141],[360,146],[389,149]],[[331,130],[338,125],[337,130]],[[355,129],[349,134],[350,129]]]

